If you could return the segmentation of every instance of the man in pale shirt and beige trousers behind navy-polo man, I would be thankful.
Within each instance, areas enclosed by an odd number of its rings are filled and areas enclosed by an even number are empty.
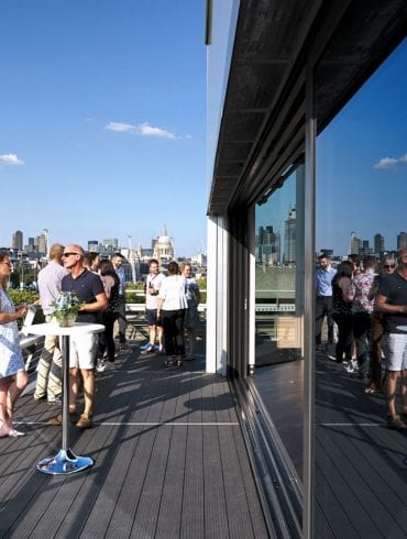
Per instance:
[[[61,282],[69,272],[63,266],[64,245],[55,243],[50,250],[50,263],[41,270],[37,277],[41,307],[45,321],[53,318],[55,301],[61,294]],[[47,399],[55,404],[62,392],[62,355],[57,337],[45,336],[44,349],[41,353],[36,372],[34,400]]]

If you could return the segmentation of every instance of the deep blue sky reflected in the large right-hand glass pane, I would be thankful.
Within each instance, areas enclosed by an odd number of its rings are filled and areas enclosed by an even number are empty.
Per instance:
[[[348,254],[352,231],[387,250],[407,232],[407,41],[317,144],[317,249]]]

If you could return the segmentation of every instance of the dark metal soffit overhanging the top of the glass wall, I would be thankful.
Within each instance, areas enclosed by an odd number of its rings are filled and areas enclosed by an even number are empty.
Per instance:
[[[264,200],[304,161],[307,62],[318,64],[321,131],[406,21],[404,0],[241,0],[208,213]]]

